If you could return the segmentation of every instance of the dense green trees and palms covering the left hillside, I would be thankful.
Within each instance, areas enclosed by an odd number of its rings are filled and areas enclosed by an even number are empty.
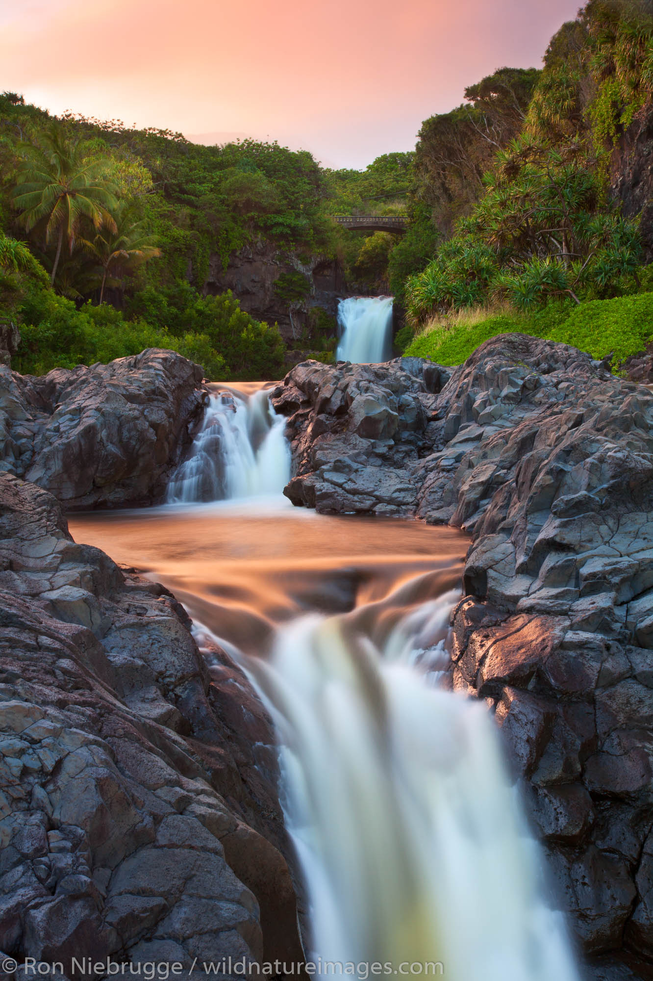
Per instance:
[[[0,162],[0,226],[28,233],[25,244],[0,236],[0,315],[21,325],[17,367],[42,372],[165,346],[212,379],[278,377],[276,326],[240,310],[230,293],[204,296],[198,286],[210,252],[225,264],[257,236],[281,249],[324,245],[329,226],[309,154],[56,120],[5,93]],[[279,289],[292,299],[310,291],[302,274],[288,279]]]

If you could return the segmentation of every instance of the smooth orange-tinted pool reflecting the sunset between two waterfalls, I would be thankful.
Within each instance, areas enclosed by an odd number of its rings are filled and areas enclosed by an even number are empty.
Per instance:
[[[362,629],[384,634],[407,606],[457,585],[468,546],[453,529],[318,515],[278,498],[257,499],[255,511],[222,502],[75,514],[69,524],[76,542],[162,582],[191,616],[252,654],[266,652],[280,624],[310,612],[366,606]]]

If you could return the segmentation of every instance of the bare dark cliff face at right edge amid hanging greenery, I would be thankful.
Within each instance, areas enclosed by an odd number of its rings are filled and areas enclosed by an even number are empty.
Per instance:
[[[653,261],[653,106],[646,105],[622,135],[611,161],[610,185],[624,215],[640,215],[646,262]]]

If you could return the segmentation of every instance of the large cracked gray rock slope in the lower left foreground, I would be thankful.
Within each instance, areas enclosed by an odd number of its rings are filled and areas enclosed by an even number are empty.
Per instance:
[[[216,657],[212,681],[171,594],[0,475],[5,954],[297,958],[272,726]]]

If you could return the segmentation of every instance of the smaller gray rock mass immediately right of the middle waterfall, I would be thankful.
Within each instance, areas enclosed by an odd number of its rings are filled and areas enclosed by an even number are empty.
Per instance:
[[[412,475],[429,446],[432,392],[449,377],[427,366],[425,378],[423,365],[400,358],[334,368],[306,361],[292,369],[272,400],[289,416],[294,477],[284,493],[294,504],[326,513],[415,513]]]

